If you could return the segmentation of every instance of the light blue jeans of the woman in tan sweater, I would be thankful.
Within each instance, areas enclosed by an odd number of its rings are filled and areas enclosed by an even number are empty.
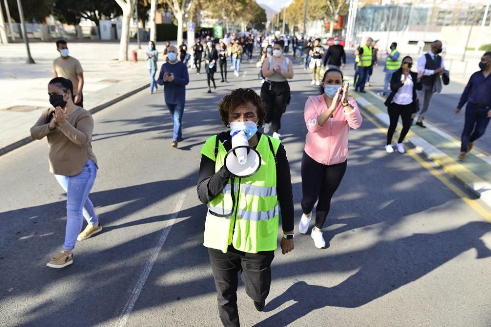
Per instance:
[[[75,176],[55,175],[56,180],[66,192],[66,230],[64,250],[75,248],[77,236],[82,230],[83,218],[88,224],[94,225],[99,221],[95,214],[94,205],[89,199],[90,189],[97,176],[97,166],[88,159],[82,172]]]

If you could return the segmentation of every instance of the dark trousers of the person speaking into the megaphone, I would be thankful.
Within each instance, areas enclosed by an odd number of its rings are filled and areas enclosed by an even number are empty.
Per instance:
[[[271,262],[274,251],[246,253],[233,246],[228,252],[208,249],[213,277],[218,293],[218,313],[225,327],[238,327],[239,312],[237,309],[237,273],[246,286],[247,295],[256,302],[263,302],[270,293]]]

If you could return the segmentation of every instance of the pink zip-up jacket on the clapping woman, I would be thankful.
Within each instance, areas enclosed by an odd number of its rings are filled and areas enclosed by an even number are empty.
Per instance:
[[[346,160],[350,127],[359,128],[363,121],[355,99],[348,97],[348,102],[352,105],[353,110],[347,113],[339,103],[333,113],[332,127],[330,118],[322,127],[317,123],[317,118],[327,110],[323,95],[311,96],[305,103],[303,117],[308,132],[305,137],[304,150],[312,159],[323,165],[335,165]]]

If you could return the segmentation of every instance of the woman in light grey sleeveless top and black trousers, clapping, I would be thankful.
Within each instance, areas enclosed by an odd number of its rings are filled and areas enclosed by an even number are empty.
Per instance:
[[[288,79],[293,78],[293,63],[283,55],[283,40],[274,42],[273,55],[263,63],[261,69],[264,83],[261,87],[261,99],[266,107],[264,133],[273,129],[273,137],[279,139],[281,115],[290,103],[290,86]]]

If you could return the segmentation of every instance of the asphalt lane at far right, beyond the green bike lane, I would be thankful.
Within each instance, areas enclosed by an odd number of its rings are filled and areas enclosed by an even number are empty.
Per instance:
[[[348,56],[348,64],[346,66],[350,75],[354,73],[355,57]],[[416,62],[416,58],[413,58]],[[383,66],[385,60],[382,60],[379,67],[375,68],[374,74],[370,78],[370,87],[367,89],[380,92],[383,90],[383,79],[385,73],[383,73]],[[479,67],[476,67],[476,71]],[[462,92],[464,91],[466,82],[461,80],[462,76],[453,76],[450,72],[450,84],[443,85],[441,93],[437,93],[433,96],[430,109],[426,113],[426,120],[438,127],[439,129],[452,135],[454,138],[460,141],[462,130],[464,129],[465,118],[465,106],[459,115],[455,114],[455,108],[459,104]],[[458,81],[455,81],[458,80]],[[415,126],[414,128],[421,128]],[[476,147],[488,156],[491,156],[491,132],[488,130],[479,140],[475,143]]]

